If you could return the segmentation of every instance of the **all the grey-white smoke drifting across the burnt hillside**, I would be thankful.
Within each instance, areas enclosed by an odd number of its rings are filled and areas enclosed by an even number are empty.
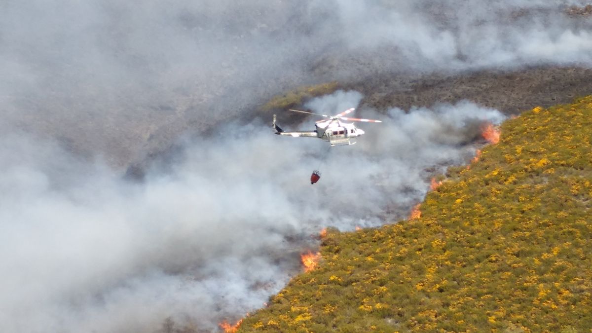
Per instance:
[[[571,4],[1,2],[0,331],[154,332],[166,318],[213,331],[260,308],[301,270],[310,235],[405,217],[503,116],[469,101],[361,110],[384,122],[330,150],[235,119],[301,84],[590,66],[590,19],[562,14]],[[168,171],[122,180],[205,130]]]

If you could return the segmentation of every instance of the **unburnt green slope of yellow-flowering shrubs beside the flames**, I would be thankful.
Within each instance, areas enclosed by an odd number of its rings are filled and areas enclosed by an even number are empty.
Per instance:
[[[527,111],[418,219],[323,238],[239,332],[592,329],[592,97]]]

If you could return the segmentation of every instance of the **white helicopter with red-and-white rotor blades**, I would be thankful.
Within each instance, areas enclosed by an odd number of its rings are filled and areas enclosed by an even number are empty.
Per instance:
[[[358,137],[363,135],[365,132],[361,129],[358,129],[354,126],[353,123],[343,123],[342,120],[349,120],[349,121],[364,121],[366,123],[382,123],[381,120],[372,120],[372,119],[357,119],[357,118],[348,118],[343,117],[348,113],[353,112],[356,110],[355,108],[348,108],[348,110],[343,111],[342,113],[336,114],[335,116],[327,116],[326,114],[318,114],[312,113],[307,111],[300,111],[300,110],[292,110],[289,111],[293,112],[300,112],[300,113],[308,113],[314,114],[316,116],[321,116],[327,118],[326,120],[319,120],[314,124],[317,127],[314,131],[285,131],[282,130],[278,125],[275,124],[275,114],[274,114],[274,124],[273,129],[275,130],[275,134],[277,135],[289,135],[292,137],[299,137],[299,136],[308,136],[308,137],[318,137],[319,139],[323,139],[329,141],[331,146],[345,146],[345,145],[355,145],[355,141],[352,142],[350,139],[353,137]]]

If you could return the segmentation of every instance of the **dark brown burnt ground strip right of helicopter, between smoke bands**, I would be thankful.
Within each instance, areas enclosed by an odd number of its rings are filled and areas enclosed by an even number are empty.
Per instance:
[[[382,76],[345,88],[362,92],[362,104],[378,110],[409,110],[413,106],[469,100],[505,114],[518,114],[535,106],[568,103],[579,95],[592,94],[592,69],[539,67],[419,78]]]

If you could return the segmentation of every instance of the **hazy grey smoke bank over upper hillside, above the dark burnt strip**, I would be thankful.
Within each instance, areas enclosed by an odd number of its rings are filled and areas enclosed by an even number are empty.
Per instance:
[[[590,65],[590,19],[562,11],[583,3],[4,1],[0,129],[124,169],[301,84]]]

